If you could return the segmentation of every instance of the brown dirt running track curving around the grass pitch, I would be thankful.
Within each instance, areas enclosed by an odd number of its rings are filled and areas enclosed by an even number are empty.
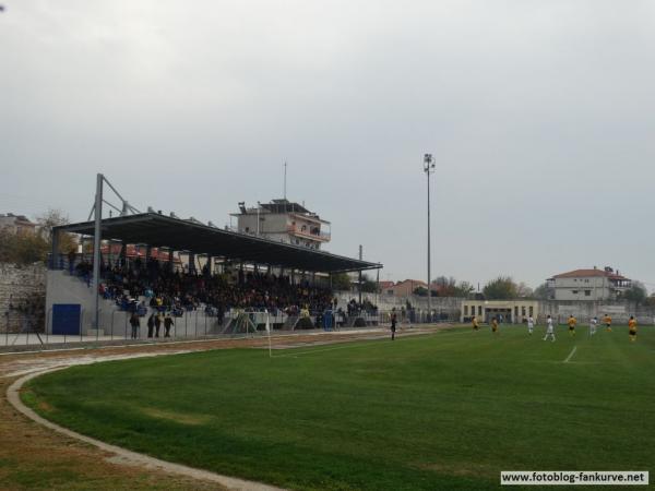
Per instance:
[[[433,330],[415,328],[407,334],[426,332]],[[385,330],[367,330],[275,336],[273,347],[285,349],[385,335]],[[23,406],[19,397],[20,386],[29,378],[74,364],[210,349],[267,348],[267,338],[219,339],[0,356],[0,489],[274,489],[166,463],[88,439],[44,420]]]

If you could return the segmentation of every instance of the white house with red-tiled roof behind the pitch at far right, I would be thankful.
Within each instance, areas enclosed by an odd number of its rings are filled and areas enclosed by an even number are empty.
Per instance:
[[[555,300],[616,300],[631,286],[631,280],[611,267],[575,270],[555,275],[547,280]]]

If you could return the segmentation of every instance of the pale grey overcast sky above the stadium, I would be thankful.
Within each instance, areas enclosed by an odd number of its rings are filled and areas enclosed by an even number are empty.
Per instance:
[[[0,13],[0,212],[139,207],[225,225],[288,192],[326,250],[535,287],[655,288],[655,2],[35,1]]]

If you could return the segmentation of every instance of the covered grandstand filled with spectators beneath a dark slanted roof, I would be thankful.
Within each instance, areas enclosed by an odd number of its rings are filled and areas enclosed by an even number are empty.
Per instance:
[[[111,247],[98,248],[102,254],[96,276],[93,250],[59,253],[59,237],[76,233],[93,237],[94,243],[102,244],[95,237],[97,229],[102,240]],[[121,244],[119,255],[115,252],[117,243]],[[132,249],[130,255],[128,246]],[[122,325],[122,321],[117,321],[122,318],[115,315],[116,307],[126,313],[138,312],[142,318],[150,312],[179,314],[183,316],[184,332],[192,311],[196,335],[199,315],[205,334],[234,334],[243,327],[248,330],[248,324],[262,328],[266,319],[275,328],[326,326],[325,312],[332,307],[335,312],[329,314],[330,324],[341,320],[345,325],[349,320],[342,313],[342,306],[337,313],[336,302],[331,303],[332,276],[381,267],[380,263],[154,212],[103,218],[99,224],[69,224],[52,231],[47,328],[51,334],[114,336],[116,326]],[[73,308],[76,304],[79,309]],[[303,316],[302,311],[310,311],[310,315]],[[243,312],[250,312],[247,319]],[[348,316],[349,313],[350,309]],[[366,313],[359,311],[358,315]],[[126,337],[127,323],[126,316]]]

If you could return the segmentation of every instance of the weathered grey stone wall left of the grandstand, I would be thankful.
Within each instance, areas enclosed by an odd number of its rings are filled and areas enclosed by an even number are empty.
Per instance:
[[[44,330],[46,268],[0,263],[0,332],[19,332],[26,324]]]

